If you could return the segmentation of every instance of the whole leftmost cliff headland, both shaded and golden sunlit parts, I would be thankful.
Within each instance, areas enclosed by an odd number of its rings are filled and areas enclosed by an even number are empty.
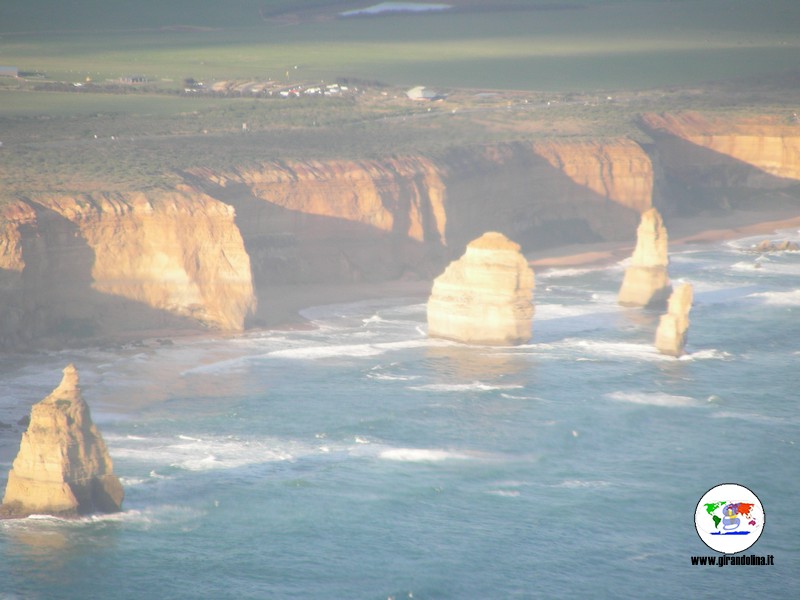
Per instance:
[[[40,194],[2,217],[0,346],[181,320],[241,330],[255,306],[233,208],[188,187]]]

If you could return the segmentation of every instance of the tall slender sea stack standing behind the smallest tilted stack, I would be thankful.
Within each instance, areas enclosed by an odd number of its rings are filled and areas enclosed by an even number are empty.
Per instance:
[[[619,290],[623,306],[662,304],[670,292],[667,228],[655,208],[642,213],[636,230],[636,249]]]

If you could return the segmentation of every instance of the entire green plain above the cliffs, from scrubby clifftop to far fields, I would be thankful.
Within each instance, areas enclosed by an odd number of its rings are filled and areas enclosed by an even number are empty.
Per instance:
[[[369,4],[30,0],[5,7],[0,64],[42,76],[0,78],[0,197],[168,187],[192,167],[280,158],[635,137],[644,111],[780,113],[796,101],[795,0],[733,7],[728,0],[508,0],[492,11],[334,18]],[[113,84],[129,75],[150,83]],[[99,88],[53,83],[87,78]],[[348,78],[387,87],[297,100],[180,95],[187,78],[208,85]],[[756,81],[777,93],[765,94]],[[411,85],[450,95],[412,103],[403,96]],[[482,98],[478,90],[499,93]]]

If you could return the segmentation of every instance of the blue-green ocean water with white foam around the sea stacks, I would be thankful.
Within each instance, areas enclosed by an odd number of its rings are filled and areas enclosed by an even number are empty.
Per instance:
[[[537,272],[521,347],[429,340],[397,298],[308,310],[309,331],[5,357],[6,423],[76,363],[126,498],[0,522],[0,598],[800,597],[800,253],[753,241],[672,255],[695,286],[680,359],[656,313],[617,306],[624,264]],[[725,482],[763,503],[747,553],[775,566],[690,564]]]

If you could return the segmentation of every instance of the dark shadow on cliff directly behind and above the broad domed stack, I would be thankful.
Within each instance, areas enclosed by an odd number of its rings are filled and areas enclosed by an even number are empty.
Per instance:
[[[532,252],[568,244],[630,240],[639,215],[575,183],[530,144],[497,147],[499,156],[454,150],[442,158],[447,242],[453,256],[485,231],[504,233]]]

